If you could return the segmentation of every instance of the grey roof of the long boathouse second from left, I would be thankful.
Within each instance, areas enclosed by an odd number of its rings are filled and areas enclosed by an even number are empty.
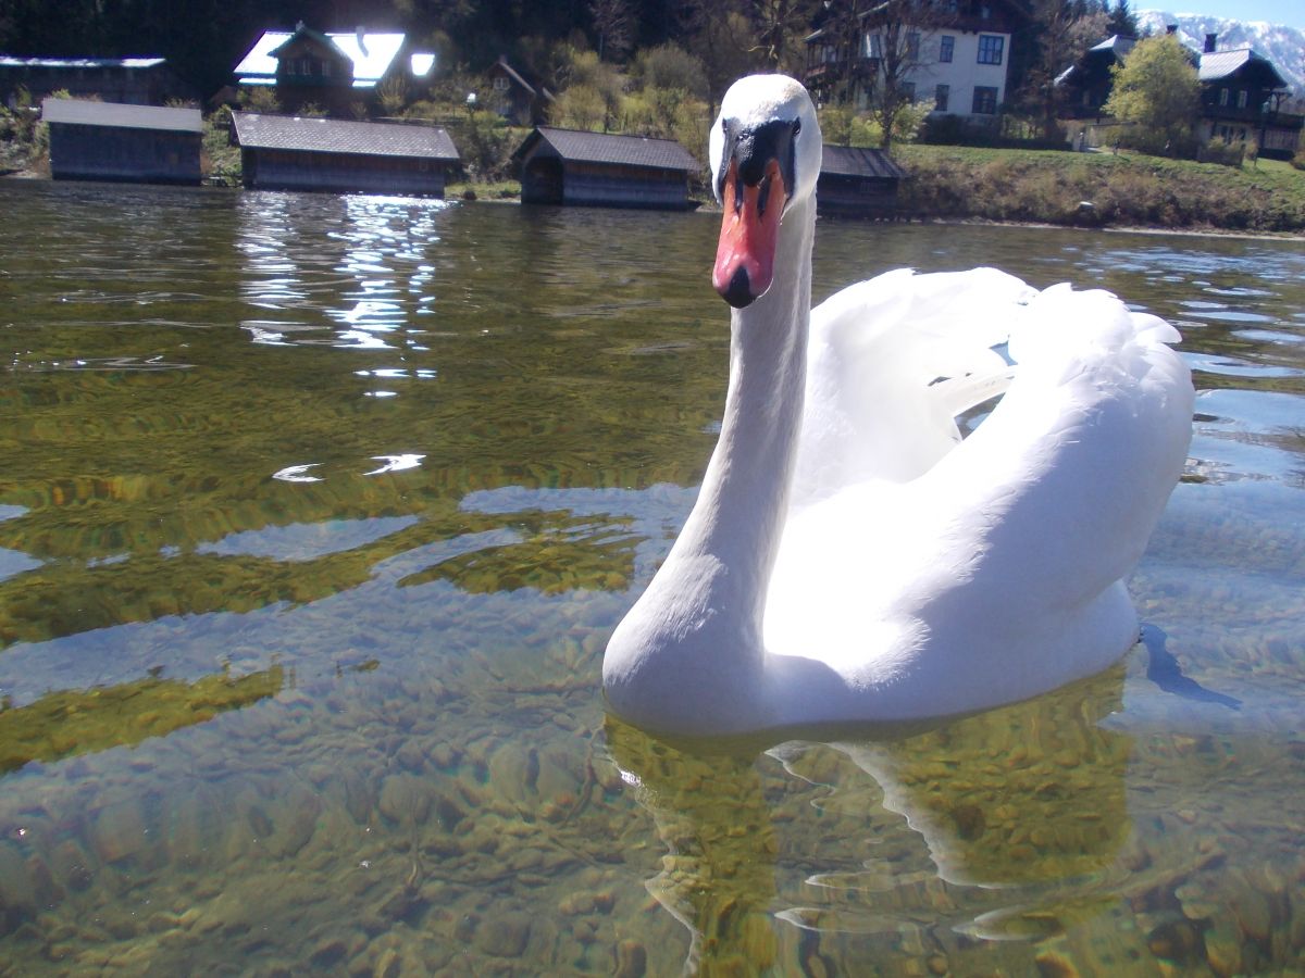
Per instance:
[[[458,160],[449,133],[432,125],[354,123],[339,119],[232,112],[236,142],[247,149],[347,153],[360,156],[410,156]]]

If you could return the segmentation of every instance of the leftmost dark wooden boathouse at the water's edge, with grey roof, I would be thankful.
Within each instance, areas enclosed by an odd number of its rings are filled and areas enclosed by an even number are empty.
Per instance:
[[[197,108],[46,99],[55,180],[198,184],[204,120]]]

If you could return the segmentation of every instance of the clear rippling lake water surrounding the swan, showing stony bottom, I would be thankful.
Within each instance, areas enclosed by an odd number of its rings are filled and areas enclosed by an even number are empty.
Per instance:
[[[724,396],[709,215],[0,183],[0,974],[1305,968],[1305,246],[822,222],[1176,322],[1091,681],[895,739],[604,716]]]

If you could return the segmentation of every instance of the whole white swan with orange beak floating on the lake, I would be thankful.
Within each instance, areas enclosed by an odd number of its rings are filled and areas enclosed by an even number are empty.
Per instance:
[[[719,439],[603,656],[624,720],[748,734],[945,719],[1100,672],[1191,437],[1163,319],[993,269],[887,273],[810,309],[821,133],[752,76],[711,130],[732,306]],[[1000,402],[962,439],[958,415]]]

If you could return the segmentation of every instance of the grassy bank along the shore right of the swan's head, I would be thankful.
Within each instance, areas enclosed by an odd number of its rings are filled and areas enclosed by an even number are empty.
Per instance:
[[[1305,172],[1274,160],[1238,170],[1137,153],[923,145],[894,155],[911,176],[900,201],[912,216],[1305,231]]]

